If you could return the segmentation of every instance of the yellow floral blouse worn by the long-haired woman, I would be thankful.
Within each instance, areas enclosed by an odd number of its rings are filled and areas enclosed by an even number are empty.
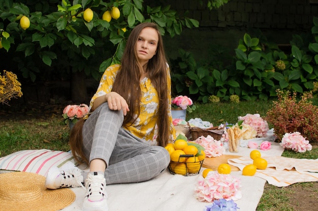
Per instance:
[[[90,100],[89,109],[92,107],[94,100],[100,96],[103,96],[112,91],[113,83],[116,77],[118,70],[120,69],[119,64],[109,66],[100,81],[100,85],[97,89],[97,92],[94,94]],[[167,81],[168,81],[168,102],[170,105],[168,114],[170,121],[170,133],[171,137],[169,142],[172,142],[176,138],[176,132],[172,123],[171,115],[171,78],[169,72],[169,66],[167,69]],[[136,121],[130,125],[126,126],[125,129],[131,132],[133,135],[144,139],[150,144],[156,145],[156,121],[157,121],[157,112],[158,112],[158,95],[157,91],[152,86],[152,83],[149,78],[145,77],[140,81],[141,88],[141,102],[140,102],[140,114]]]

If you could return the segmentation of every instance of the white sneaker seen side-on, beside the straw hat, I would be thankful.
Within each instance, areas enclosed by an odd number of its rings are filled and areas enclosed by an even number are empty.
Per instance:
[[[48,189],[84,187],[81,170],[71,161],[61,168],[53,166],[47,173],[45,187]]]

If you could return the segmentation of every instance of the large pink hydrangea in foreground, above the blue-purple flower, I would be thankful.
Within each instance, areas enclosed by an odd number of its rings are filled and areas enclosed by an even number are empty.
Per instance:
[[[199,201],[207,202],[221,198],[237,200],[242,198],[240,182],[238,178],[231,175],[211,171],[206,178],[197,181],[194,195]]]

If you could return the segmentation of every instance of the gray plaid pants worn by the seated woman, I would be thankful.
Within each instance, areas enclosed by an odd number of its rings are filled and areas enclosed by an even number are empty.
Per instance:
[[[89,161],[106,162],[106,184],[147,181],[163,172],[170,162],[168,151],[126,131],[122,122],[122,110],[103,103],[83,125],[84,154]]]

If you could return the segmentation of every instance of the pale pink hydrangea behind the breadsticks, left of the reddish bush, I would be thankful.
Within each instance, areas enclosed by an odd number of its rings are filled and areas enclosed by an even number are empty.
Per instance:
[[[243,120],[242,124],[248,124],[257,131],[257,137],[266,137],[269,130],[268,123],[260,116],[260,114],[246,114],[239,116],[239,120]]]

